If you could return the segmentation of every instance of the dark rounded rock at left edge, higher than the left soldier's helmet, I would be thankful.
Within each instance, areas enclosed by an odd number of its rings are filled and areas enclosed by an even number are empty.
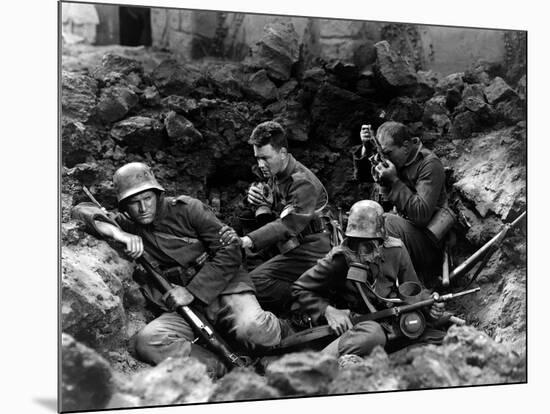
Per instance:
[[[71,168],[86,162],[89,157],[101,157],[102,138],[98,132],[82,122],[64,122],[61,125],[61,162]]]

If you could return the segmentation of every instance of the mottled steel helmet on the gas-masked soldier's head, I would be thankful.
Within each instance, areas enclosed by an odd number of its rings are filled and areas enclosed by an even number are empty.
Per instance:
[[[385,239],[384,209],[376,201],[361,200],[351,206],[346,236]]]

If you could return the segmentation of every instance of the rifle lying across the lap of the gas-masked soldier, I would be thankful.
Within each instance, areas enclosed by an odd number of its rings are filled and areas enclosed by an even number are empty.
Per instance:
[[[429,298],[421,300],[416,303],[405,304],[400,306],[394,306],[392,308],[384,309],[381,311],[368,313],[368,314],[352,314],[350,316],[351,322],[355,325],[364,321],[379,321],[391,319],[392,325],[395,327],[394,331],[397,332],[394,335],[390,335],[389,339],[395,339],[399,336],[405,336],[409,339],[419,338],[426,328],[426,321],[422,313],[418,312],[418,309],[425,306],[431,306],[435,302],[446,302],[451,299],[455,299],[461,296],[469,295],[480,290],[479,287],[465,290],[458,293],[448,293],[442,295],[439,299]],[[446,315],[448,320],[457,324],[463,324],[464,321],[459,318],[455,318]],[[332,330],[329,325],[317,326],[314,328],[306,329],[291,335],[281,341],[279,345],[270,349],[270,353],[279,354],[285,352],[292,352],[298,350],[303,345],[318,341],[321,339],[336,338],[337,334]]]

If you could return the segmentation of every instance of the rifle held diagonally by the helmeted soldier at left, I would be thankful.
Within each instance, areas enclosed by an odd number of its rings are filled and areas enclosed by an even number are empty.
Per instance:
[[[86,186],[83,187],[83,190],[88,198],[96,206],[98,206],[101,211],[107,213],[107,210],[95,199],[95,197],[90,193]],[[114,220],[111,220],[110,224],[113,224],[114,226],[120,228],[119,224]],[[145,269],[145,271],[153,279],[153,282],[157,285],[157,288],[162,294],[165,294],[172,289],[172,285],[170,284],[170,282],[168,282],[164,278],[164,276],[161,275],[160,272],[158,272],[152,265],[146,252],[144,252],[141,257],[137,258],[136,262]],[[191,325],[197,336],[204,340],[207,346],[211,348],[214,353],[223,358],[223,362],[228,369],[246,366],[241,357],[239,357],[229,349],[223,339],[221,339],[214,332],[208,321],[206,321],[204,317],[202,317],[202,315],[192,310],[189,306],[179,306],[176,309],[176,312],[178,312],[185,319],[185,321],[189,323],[189,325]]]

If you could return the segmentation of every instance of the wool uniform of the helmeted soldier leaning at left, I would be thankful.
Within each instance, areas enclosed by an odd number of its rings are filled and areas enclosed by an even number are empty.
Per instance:
[[[75,207],[74,216],[99,234],[95,220],[111,221],[91,203]],[[193,306],[205,310],[212,323],[223,316],[231,321],[237,339],[252,344],[272,346],[280,341],[278,319],[263,311],[254,297],[254,285],[243,269],[241,251],[236,245],[223,246],[219,240],[222,223],[208,206],[188,196],[160,196],[155,220],[148,225],[133,222],[126,214],[114,216],[128,233],[143,240],[145,251],[155,267],[170,275],[170,282],[185,285],[194,296]],[[197,258],[207,259],[197,265]],[[187,270],[196,274],[187,280]],[[162,293],[148,279],[139,279],[144,296],[164,313],[150,322],[137,336],[136,350],[143,360],[158,363],[181,352],[193,340],[194,333],[176,312],[170,312],[162,301]]]

